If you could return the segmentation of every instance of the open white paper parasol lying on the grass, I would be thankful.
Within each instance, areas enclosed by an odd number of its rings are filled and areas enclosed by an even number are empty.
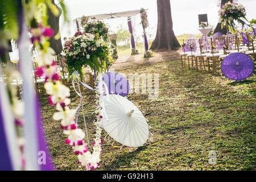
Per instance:
[[[104,96],[104,104],[108,120],[103,119],[102,126],[110,137],[129,147],[139,147],[147,142],[148,124],[133,102],[108,94]]]

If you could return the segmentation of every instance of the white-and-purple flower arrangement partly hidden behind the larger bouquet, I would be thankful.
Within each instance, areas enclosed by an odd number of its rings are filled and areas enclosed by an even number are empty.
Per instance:
[[[97,20],[95,17],[88,18],[86,16],[82,16],[81,26],[84,28],[84,33],[98,34],[98,36],[102,37],[105,42],[108,42],[109,28],[105,23]]]

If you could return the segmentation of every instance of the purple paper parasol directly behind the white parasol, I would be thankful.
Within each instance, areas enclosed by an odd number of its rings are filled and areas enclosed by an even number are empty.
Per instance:
[[[109,94],[119,94],[125,97],[129,93],[129,82],[124,76],[115,72],[108,72],[102,80],[108,87]]]

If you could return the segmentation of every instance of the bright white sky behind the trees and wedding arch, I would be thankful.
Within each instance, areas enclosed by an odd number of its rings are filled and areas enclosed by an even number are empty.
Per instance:
[[[141,7],[147,9],[149,27],[147,32],[154,39],[157,27],[157,5],[156,0],[65,0],[70,24],[63,25],[60,18],[61,37],[69,37],[75,33],[72,20],[82,15],[110,14],[120,11],[139,10]],[[218,10],[220,0],[171,0],[171,13],[175,35],[200,34],[198,15],[208,14],[208,23],[213,27],[218,23]],[[247,19],[256,19],[256,0],[237,0],[245,6]],[[135,16],[135,35],[142,35],[140,15]],[[115,31],[119,24],[128,28],[126,18],[105,20],[110,30]]]

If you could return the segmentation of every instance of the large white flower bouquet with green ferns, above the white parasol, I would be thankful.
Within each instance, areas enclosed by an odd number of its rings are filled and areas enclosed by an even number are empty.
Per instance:
[[[98,34],[76,34],[67,39],[61,56],[67,61],[69,76],[77,71],[82,76],[82,68],[89,65],[93,70],[106,69],[106,61],[112,61],[109,47]]]

